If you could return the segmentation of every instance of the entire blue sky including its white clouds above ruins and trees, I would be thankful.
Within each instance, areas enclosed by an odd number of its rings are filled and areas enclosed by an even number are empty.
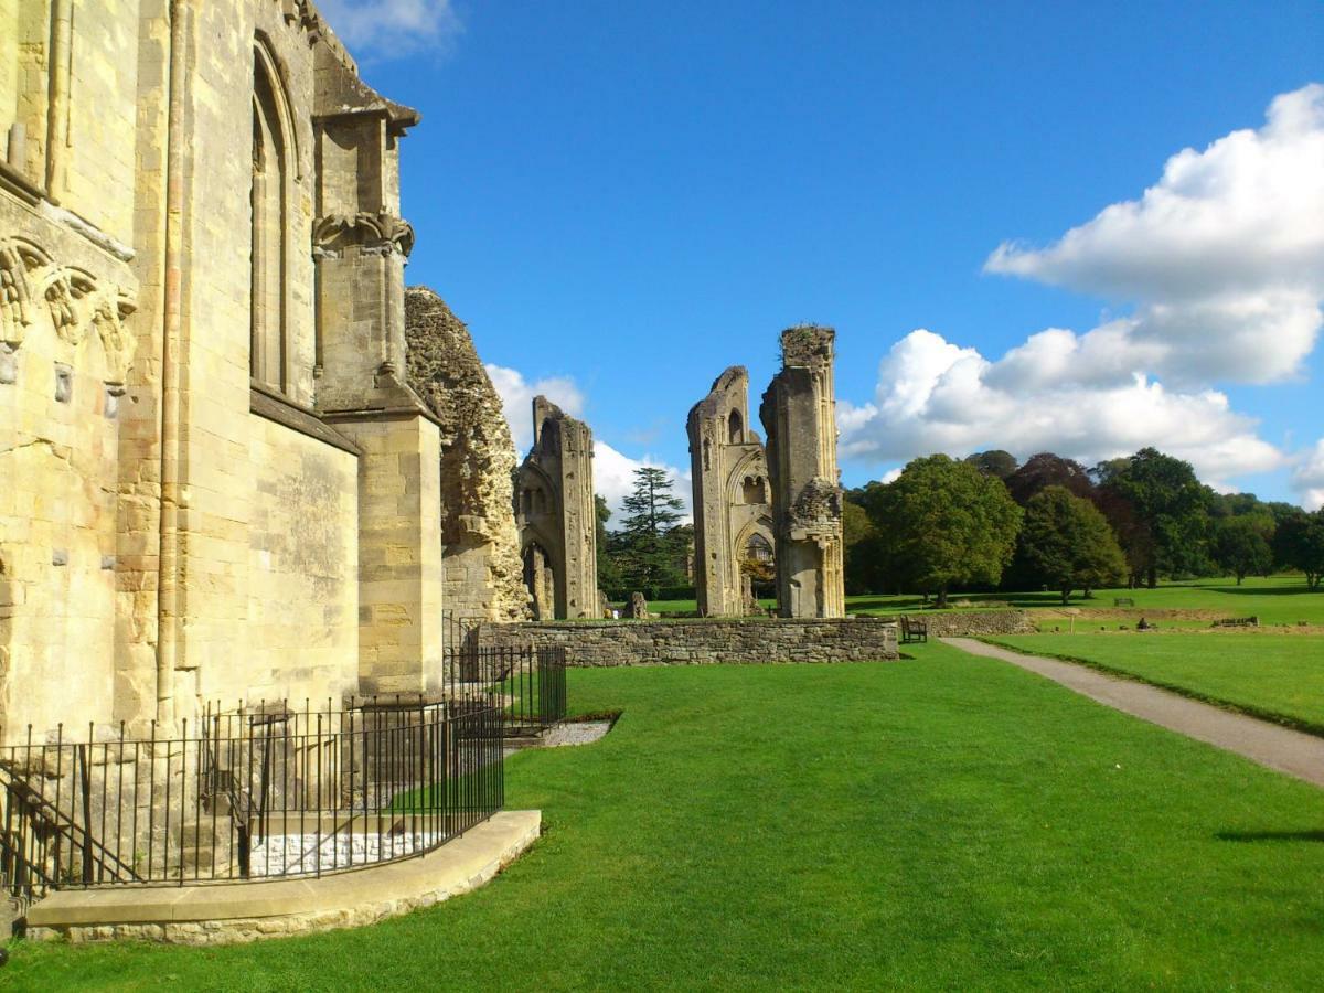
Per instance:
[[[1317,3],[322,7],[422,113],[409,281],[520,433],[539,381],[581,412],[600,489],[687,466],[688,406],[730,364],[761,391],[812,320],[838,332],[847,485],[939,449],[1155,444],[1324,500]]]

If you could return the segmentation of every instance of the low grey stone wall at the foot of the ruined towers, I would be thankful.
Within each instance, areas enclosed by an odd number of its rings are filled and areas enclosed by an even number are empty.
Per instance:
[[[569,665],[584,667],[898,658],[896,624],[878,617],[503,624],[485,625],[478,641],[482,647],[563,646]]]

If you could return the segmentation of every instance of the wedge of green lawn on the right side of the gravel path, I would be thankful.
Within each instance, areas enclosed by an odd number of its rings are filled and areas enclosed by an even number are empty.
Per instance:
[[[1324,733],[1324,638],[1307,634],[1029,634],[990,638],[1080,659]]]

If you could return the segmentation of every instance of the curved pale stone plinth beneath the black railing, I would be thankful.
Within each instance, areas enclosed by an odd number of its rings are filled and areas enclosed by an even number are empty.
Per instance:
[[[421,858],[320,879],[64,890],[28,911],[28,937],[229,944],[359,927],[469,892],[538,838],[539,810],[504,810]]]

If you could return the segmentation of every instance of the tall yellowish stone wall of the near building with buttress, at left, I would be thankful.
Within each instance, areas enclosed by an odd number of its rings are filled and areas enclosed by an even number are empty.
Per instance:
[[[417,120],[308,0],[0,0],[0,739],[428,683]]]

